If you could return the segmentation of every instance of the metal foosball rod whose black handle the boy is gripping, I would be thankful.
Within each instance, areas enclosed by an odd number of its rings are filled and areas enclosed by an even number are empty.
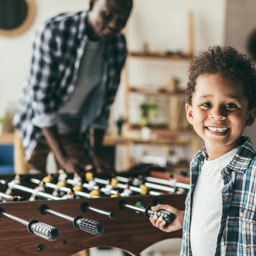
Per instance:
[[[148,218],[153,217],[154,215],[157,215],[159,217],[162,216],[164,218],[164,220],[166,221],[167,225],[172,223],[175,218],[175,215],[173,213],[170,213],[169,211],[166,211],[166,210],[153,211],[153,210],[151,210],[151,207],[146,207],[146,208],[136,207],[135,205],[126,204],[126,202],[123,200],[120,201],[119,207],[121,209],[126,207],[126,208],[130,208],[132,210],[138,211],[140,213],[145,214],[145,216]]]

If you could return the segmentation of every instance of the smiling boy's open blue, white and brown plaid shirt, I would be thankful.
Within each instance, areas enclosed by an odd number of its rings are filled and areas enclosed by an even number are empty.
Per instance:
[[[238,153],[221,170],[224,186],[216,256],[256,255],[256,152],[251,139],[242,137],[242,142]],[[182,256],[192,255],[189,241],[193,191],[205,158],[207,151],[202,148],[191,161],[191,188],[186,198]]]

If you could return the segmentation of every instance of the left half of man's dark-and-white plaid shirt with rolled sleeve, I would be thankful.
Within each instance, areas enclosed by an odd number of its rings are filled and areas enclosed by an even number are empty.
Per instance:
[[[30,73],[19,97],[13,125],[29,160],[42,131],[55,124],[57,110],[73,92],[83,50],[86,12],[60,14],[38,29]],[[84,43],[85,44],[85,43]]]

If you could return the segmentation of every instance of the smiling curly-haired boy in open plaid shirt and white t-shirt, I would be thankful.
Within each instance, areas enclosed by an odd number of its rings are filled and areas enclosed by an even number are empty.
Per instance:
[[[232,46],[212,46],[192,59],[186,113],[205,146],[191,161],[186,210],[157,205],[176,215],[165,232],[181,229],[181,255],[256,254],[256,152],[243,137],[256,116],[256,71]]]

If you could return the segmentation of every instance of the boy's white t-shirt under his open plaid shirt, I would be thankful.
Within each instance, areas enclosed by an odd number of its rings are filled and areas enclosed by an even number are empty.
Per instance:
[[[193,256],[213,256],[216,250],[222,213],[221,170],[227,166],[239,147],[202,164],[192,202],[191,249]]]

